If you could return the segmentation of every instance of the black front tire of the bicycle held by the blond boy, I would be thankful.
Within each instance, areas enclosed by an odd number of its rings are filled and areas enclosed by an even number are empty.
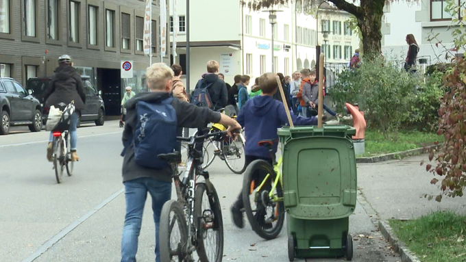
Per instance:
[[[210,183],[210,182],[209,182]],[[223,218],[221,214],[220,200],[217,195],[217,191],[214,188],[214,185],[210,183],[210,188],[212,192],[207,194],[208,202],[210,205],[210,211],[213,214],[212,228],[204,229],[206,225],[206,220],[199,217],[204,217],[204,210],[202,208],[202,198],[204,197],[204,192],[207,192],[207,185],[205,183],[197,184],[195,191],[195,201],[194,201],[194,218],[196,221],[197,228],[197,254],[199,255],[199,260],[201,262],[221,262],[223,259]],[[210,229],[218,233],[218,239],[215,241],[215,253],[212,256],[208,256],[206,252],[206,243],[204,243],[204,233],[207,233]]]

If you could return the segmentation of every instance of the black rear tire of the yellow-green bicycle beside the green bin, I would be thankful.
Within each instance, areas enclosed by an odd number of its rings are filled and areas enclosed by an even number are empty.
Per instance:
[[[251,190],[251,181],[252,181],[252,175],[256,170],[266,170],[270,176],[267,180],[271,180],[273,182],[275,180],[276,174],[275,171],[273,171],[273,167],[271,166],[270,163],[268,163],[265,160],[262,159],[257,159],[252,161],[252,163],[249,163],[247,166],[247,169],[245,170],[245,176],[243,179],[243,189],[241,194],[243,194],[243,204],[245,208],[245,213],[247,216],[247,220],[249,220],[249,224],[251,224],[252,230],[256,232],[257,235],[262,237],[263,239],[275,239],[280,232],[282,231],[282,227],[284,224],[284,203],[283,201],[278,202],[278,207],[276,211],[278,212],[276,216],[276,224],[275,226],[272,226],[270,229],[265,229],[260,226],[260,224],[257,222],[256,218],[254,218],[254,213],[252,211],[251,207],[251,202],[249,200],[249,195],[250,195],[250,190]],[[262,181],[261,181],[262,182]],[[266,182],[267,183],[267,182]],[[282,189],[282,184],[278,183],[276,187],[277,191],[277,196],[279,198],[283,198],[283,189]]]

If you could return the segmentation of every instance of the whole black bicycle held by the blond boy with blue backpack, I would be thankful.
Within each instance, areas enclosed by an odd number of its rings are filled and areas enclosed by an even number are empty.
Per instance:
[[[178,163],[182,157],[180,152],[158,155],[159,159],[170,163],[177,194],[177,200],[169,200],[162,207],[159,233],[160,261],[169,262],[172,258],[177,258],[177,261],[192,262],[193,252],[196,250],[201,262],[221,262],[223,219],[219,196],[210,182],[209,173],[202,168],[204,157],[195,149],[195,144],[208,137],[220,140],[225,135],[226,132],[222,131],[200,136],[177,137],[178,141],[188,142],[188,162],[184,172],[178,172]],[[204,181],[197,182],[199,176],[204,176]],[[202,207],[204,193],[208,198],[206,208]],[[175,222],[180,231],[180,241],[172,249],[169,243]],[[214,252],[210,254],[206,252],[207,245],[204,239],[208,233],[217,236],[214,241]]]

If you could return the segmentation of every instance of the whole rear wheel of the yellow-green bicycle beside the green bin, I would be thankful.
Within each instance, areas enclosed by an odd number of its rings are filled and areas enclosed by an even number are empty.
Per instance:
[[[269,176],[265,177],[264,174]],[[247,220],[252,230],[267,240],[277,237],[284,223],[283,189],[280,182],[273,190],[273,196],[280,200],[269,198],[275,177],[272,166],[267,161],[259,159],[247,166],[243,179],[242,194]],[[262,187],[257,189],[262,183]],[[256,206],[254,209],[253,204]]]

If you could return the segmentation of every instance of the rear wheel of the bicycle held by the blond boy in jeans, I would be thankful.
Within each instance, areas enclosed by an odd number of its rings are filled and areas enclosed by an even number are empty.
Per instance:
[[[177,226],[175,226],[177,224]],[[173,240],[173,230],[179,232],[179,240]],[[160,214],[159,227],[160,261],[183,261],[186,256],[186,241],[188,241],[188,226],[180,203],[175,200],[165,202]]]

